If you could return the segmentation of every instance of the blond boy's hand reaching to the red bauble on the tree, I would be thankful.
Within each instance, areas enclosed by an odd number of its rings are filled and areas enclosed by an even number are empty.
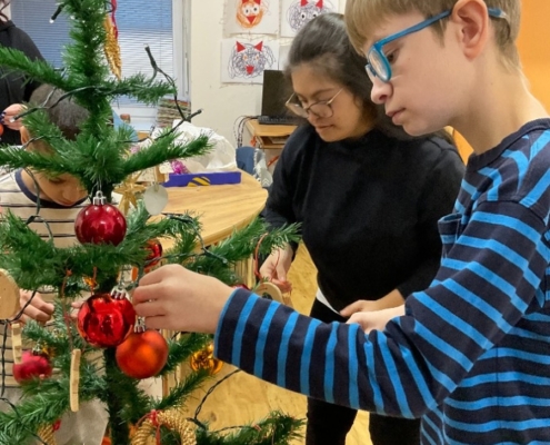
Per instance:
[[[132,300],[148,328],[213,334],[232,293],[216,278],[167,265],[140,279]]]

